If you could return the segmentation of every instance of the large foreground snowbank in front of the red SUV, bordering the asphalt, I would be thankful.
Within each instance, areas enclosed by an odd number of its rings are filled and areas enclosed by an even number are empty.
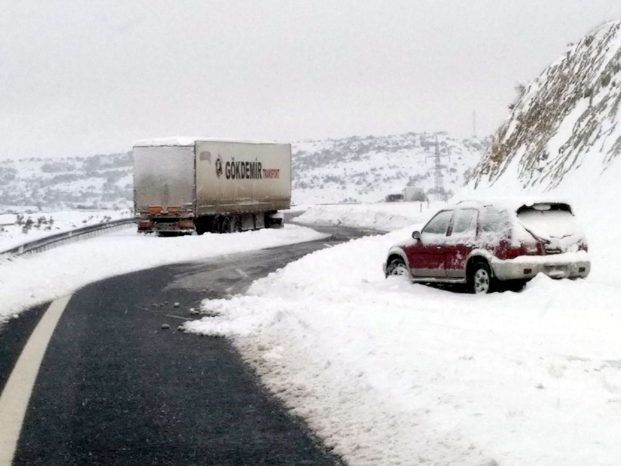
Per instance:
[[[409,234],[309,254],[184,329],[233,337],[352,466],[617,464],[619,278],[484,296],[385,280]]]

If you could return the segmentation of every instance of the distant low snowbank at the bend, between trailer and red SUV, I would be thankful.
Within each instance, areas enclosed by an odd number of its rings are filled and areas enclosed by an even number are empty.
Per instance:
[[[341,204],[311,206],[293,219],[309,225],[358,227],[381,232],[394,231],[424,222],[438,209],[438,203]]]

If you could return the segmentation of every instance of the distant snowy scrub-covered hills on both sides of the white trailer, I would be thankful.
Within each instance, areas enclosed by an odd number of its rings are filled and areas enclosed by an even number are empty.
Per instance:
[[[446,190],[463,184],[489,141],[457,140],[445,133],[302,142],[293,144],[293,202],[380,201],[410,183],[433,188],[428,170],[435,137],[443,157]],[[132,206],[132,154],[22,158],[0,162],[0,206],[42,209],[124,209]]]

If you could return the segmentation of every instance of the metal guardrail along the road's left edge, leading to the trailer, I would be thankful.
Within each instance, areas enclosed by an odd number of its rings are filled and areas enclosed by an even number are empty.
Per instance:
[[[45,236],[24,244],[20,244],[19,246],[12,247],[11,249],[0,251],[0,260],[16,255],[35,254],[37,252],[47,251],[48,249],[52,249],[63,244],[117,231],[126,228],[135,222],[136,221],[133,218],[118,219]]]

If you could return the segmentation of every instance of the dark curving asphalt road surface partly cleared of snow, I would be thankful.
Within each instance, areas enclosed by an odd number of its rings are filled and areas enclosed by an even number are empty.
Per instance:
[[[12,464],[342,464],[263,390],[227,339],[176,331],[202,299],[242,292],[292,260],[367,233],[320,230],[332,237],[76,291],[45,350]],[[47,308],[0,329],[0,390]]]

